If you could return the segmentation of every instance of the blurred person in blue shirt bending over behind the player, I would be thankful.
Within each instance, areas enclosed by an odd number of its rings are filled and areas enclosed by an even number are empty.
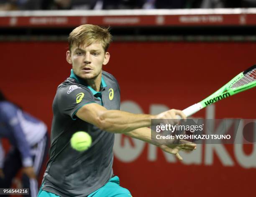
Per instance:
[[[11,145],[6,155],[1,139]],[[48,152],[48,141],[46,124],[8,101],[0,91],[0,187],[10,188],[22,169],[23,188],[29,188],[26,196],[36,197],[37,177]]]

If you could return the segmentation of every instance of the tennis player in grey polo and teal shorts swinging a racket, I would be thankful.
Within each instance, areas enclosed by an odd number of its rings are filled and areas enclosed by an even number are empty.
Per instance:
[[[129,197],[113,174],[114,134],[123,133],[176,154],[192,151],[195,144],[159,144],[151,141],[151,119],[183,119],[180,110],[172,109],[156,116],[120,111],[120,88],[113,75],[102,71],[110,59],[108,29],[81,25],[69,34],[67,62],[70,77],[61,83],[53,101],[50,159],[38,197]],[[70,146],[76,131],[92,136],[87,151]]]

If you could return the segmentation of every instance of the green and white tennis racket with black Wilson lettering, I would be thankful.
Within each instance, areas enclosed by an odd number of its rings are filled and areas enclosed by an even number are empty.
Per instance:
[[[245,71],[239,73],[231,81],[226,83],[215,93],[211,94],[204,100],[200,101],[197,104],[189,106],[184,109],[183,112],[186,116],[191,116],[195,114],[200,109],[203,109],[217,101],[220,101],[224,98],[233,96],[236,93],[246,91],[256,86],[256,65],[251,66]],[[180,116],[177,116],[177,119],[181,119]]]

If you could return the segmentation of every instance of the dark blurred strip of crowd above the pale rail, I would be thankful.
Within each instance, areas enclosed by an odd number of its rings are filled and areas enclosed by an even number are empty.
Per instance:
[[[255,0],[1,0],[2,10],[250,8]]]

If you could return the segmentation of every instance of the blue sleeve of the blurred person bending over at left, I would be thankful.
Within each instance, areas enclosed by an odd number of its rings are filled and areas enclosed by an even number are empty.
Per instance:
[[[33,159],[29,143],[18,119],[18,110],[19,109],[15,109],[14,107],[9,107],[5,110],[6,124],[13,134],[16,146],[21,154],[23,167],[31,167],[33,166]]]

